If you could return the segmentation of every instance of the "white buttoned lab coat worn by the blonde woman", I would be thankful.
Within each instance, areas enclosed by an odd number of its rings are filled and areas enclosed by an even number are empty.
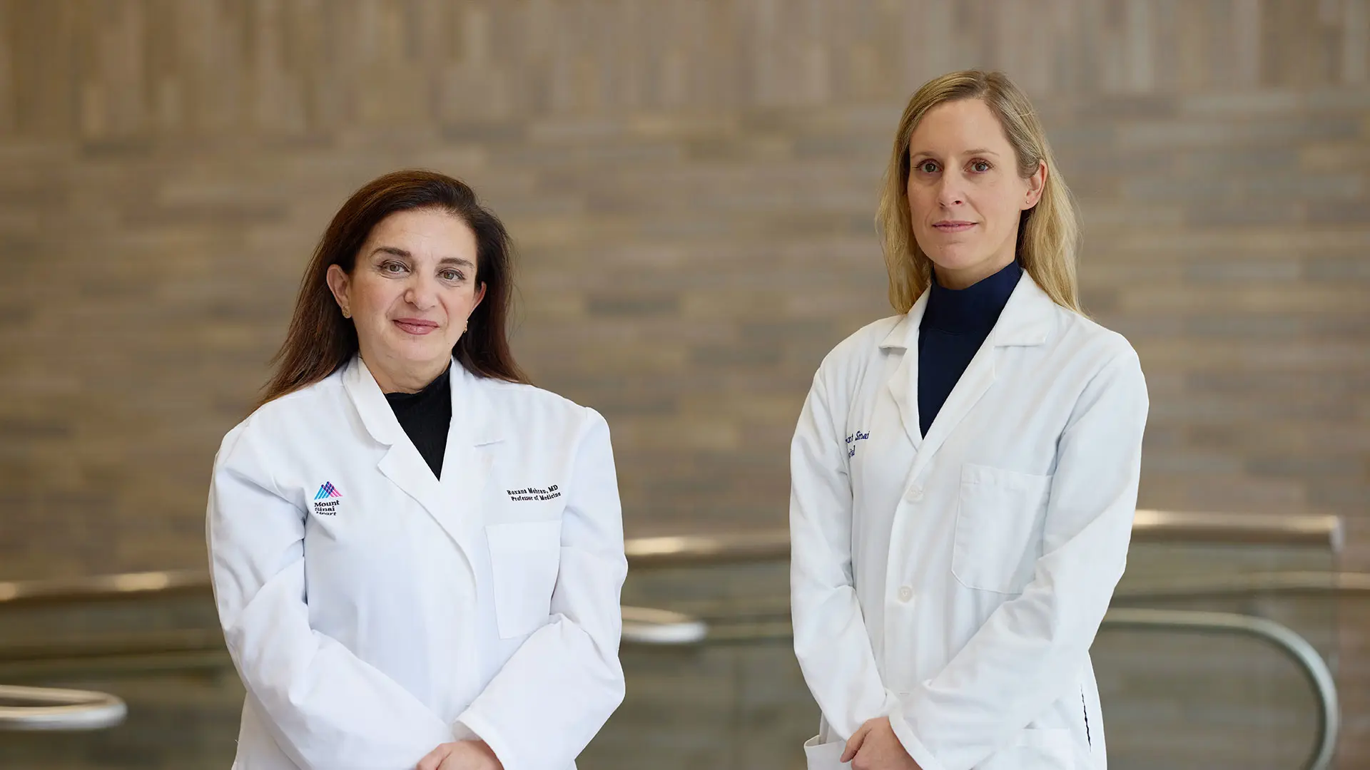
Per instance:
[[[837,345],[792,445],[811,770],[888,715],[923,770],[1106,767],[1089,645],[1122,577],[1147,388],[1128,341],[1025,273],[923,437],[918,325]]]

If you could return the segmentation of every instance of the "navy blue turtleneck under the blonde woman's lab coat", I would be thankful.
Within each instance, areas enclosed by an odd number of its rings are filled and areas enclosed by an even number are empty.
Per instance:
[[[923,436],[985,344],[1021,275],[1022,267],[1014,260],[964,289],[945,289],[933,278],[918,325],[918,427]]]

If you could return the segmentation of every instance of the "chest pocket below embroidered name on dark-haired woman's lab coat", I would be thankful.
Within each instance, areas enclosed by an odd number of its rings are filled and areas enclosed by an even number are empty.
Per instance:
[[[485,527],[495,580],[500,638],[547,623],[562,556],[562,521],[496,523]]]

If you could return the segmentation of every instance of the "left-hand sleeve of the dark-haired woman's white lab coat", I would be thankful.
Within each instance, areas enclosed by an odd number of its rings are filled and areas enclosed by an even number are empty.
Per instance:
[[[310,628],[304,512],[240,426],[215,459],[207,536],[229,654],[279,748],[303,770],[410,770],[453,740],[408,691]]]

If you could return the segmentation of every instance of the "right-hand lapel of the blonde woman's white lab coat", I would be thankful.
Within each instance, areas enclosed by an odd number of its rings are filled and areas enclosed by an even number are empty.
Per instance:
[[[927,293],[923,293],[926,299]],[[1045,292],[1032,280],[1028,273],[1022,274],[1018,286],[1008,296],[1008,303],[999,314],[995,329],[985,338],[975,356],[970,359],[966,371],[947,396],[947,401],[937,411],[933,423],[927,426],[927,436],[923,437],[918,455],[914,458],[914,467],[910,478],[917,478],[919,473],[932,462],[937,449],[947,443],[947,438],[956,430],[966,415],[980,403],[980,399],[989,390],[999,375],[997,363],[1001,348],[1011,345],[1040,345],[1047,341],[1051,330],[1054,303]],[[917,344],[906,356],[918,358]],[[917,370],[915,370],[917,373]],[[917,403],[917,377],[914,380],[914,401]],[[917,418],[914,430],[918,430]]]

